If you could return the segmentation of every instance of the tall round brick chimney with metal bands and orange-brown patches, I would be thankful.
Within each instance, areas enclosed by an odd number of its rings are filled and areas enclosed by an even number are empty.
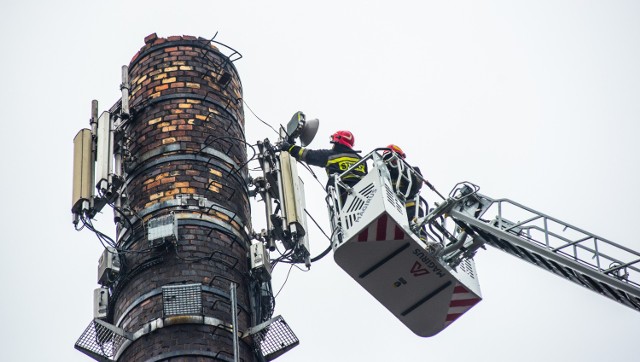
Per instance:
[[[119,228],[127,251],[109,320],[136,338],[118,360],[232,361],[231,283],[238,329],[256,322],[238,72],[208,39],[151,34],[129,79],[123,205],[131,225]],[[163,220],[177,220],[177,238],[152,235]],[[256,358],[242,341],[239,352],[242,361]]]

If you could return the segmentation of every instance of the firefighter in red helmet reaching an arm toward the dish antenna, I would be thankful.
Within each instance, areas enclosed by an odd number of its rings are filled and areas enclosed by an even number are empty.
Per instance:
[[[355,137],[350,131],[337,131],[331,135],[331,149],[310,150],[304,147],[292,145],[286,140],[280,144],[280,150],[291,154],[295,159],[304,161],[309,165],[323,167],[327,176],[341,174],[362,159],[359,152],[353,149]],[[361,163],[349,174],[342,177],[342,181],[353,187],[367,174],[366,163]]]

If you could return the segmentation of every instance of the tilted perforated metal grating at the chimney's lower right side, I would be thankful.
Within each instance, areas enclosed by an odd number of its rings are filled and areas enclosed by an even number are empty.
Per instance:
[[[271,324],[255,333],[253,337],[267,361],[281,356],[300,343],[281,316],[273,318]]]

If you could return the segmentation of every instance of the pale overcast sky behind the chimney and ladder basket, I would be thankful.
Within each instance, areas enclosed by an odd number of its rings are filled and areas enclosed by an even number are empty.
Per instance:
[[[457,182],[640,250],[637,1],[5,1],[0,5],[0,360],[87,361],[101,246],[70,215],[73,137],[119,97],[144,37],[238,50],[247,104],[273,126],[320,119],[313,147],[401,145]],[[247,140],[275,134],[245,109]],[[321,187],[307,206],[328,230]],[[321,175],[321,172],[318,172]],[[324,183],[323,176],[321,177]],[[263,223],[260,207],[252,212]],[[111,212],[99,216],[112,235]],[[311,231],[312,254],[328,241]],[[278,361],[632,361],[640,313],[488,248],[484,300],[420,338],[337,267],[293,269],[277,298],[300,338]],[[274,289],[285,281],[280,265]]]

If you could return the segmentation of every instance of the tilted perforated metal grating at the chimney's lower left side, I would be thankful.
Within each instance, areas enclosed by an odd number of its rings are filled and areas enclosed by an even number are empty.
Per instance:
[[[97,361],[114,361],[118,349],[127,338],[119,328],[93,320],[78,338],[75,348]]]

